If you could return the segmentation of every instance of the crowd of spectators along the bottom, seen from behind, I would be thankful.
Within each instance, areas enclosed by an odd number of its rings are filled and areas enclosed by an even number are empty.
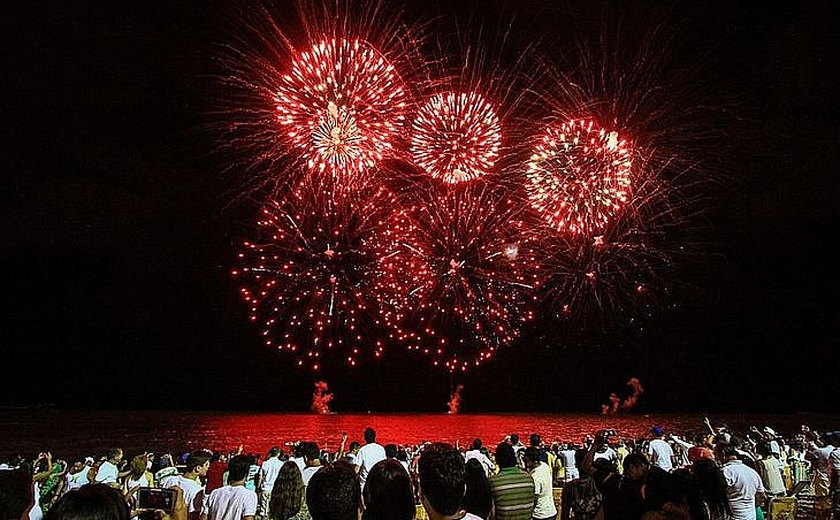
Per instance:
[[[808,517],[840,519],[840,432],[739,435],[704,422],[701,432],[654,426],[639,439],[602,430],[579,445],[537,433],[490,449],[481,439],[383,445],[367,428],[363,444],[342,434],[337,452],[311,441],[264,456],[240,446],[127,459],[115,448],[67,463],[44,452],[0,464],[0,517],[753,520],[791,514],[796,496],[807,495]],[[150,488],[171,490],[163,492],[171,501],[144,503]]]

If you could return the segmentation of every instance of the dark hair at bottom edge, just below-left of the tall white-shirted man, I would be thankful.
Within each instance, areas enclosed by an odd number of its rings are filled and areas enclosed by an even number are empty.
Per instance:
[[[306,505],[312,520],[356,520],[361,495],[356,470],[339,461],[312,475],[306,487]]]

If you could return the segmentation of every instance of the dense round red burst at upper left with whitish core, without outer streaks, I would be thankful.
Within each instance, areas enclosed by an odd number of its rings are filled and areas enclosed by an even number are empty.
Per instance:
[[[308,166],[346,177],[392,150],[407,96],[394,66],[373,46],[332,38],[295,57],[274,103],[278,124]]]

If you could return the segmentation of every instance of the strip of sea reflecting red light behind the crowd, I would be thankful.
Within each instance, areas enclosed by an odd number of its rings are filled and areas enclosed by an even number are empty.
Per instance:
[[[712,415],[714,425],[735,431],[770,426],[786,435],[811,429],[840,430],[840,415],[731,414]],[[368,426],[381,444],[418,444],[443,441],[466,446],[480,438],[493,446],[516,433],[526,441],[539,433],[544,441],[581,442],[600,429],[638,438],[661,426],[680,435],[701,431],[698,414],[382,414],[333,413],[327,415],[267,412],[184,411],[67,411],[52,409],[0,410],[0,460],[20,454],[34,456],[51,451],[61,458],[101,455],[111,447],[127,456],[143,452],[180,454],[200,448],[227,451],[242,445],[249,453],[265,453],[271,446],[298,440],[315,441],[337,450],[342,432],[362,441]]]

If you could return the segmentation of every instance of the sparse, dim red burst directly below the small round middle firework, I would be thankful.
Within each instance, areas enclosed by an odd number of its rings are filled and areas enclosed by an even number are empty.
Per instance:
[[[391,325],[434,365],[466,370],[533,318],[533,237],[521,206],[501,190],[470,185],[420,199],[403,254],[424,267],[412,273],[408,308]]]

